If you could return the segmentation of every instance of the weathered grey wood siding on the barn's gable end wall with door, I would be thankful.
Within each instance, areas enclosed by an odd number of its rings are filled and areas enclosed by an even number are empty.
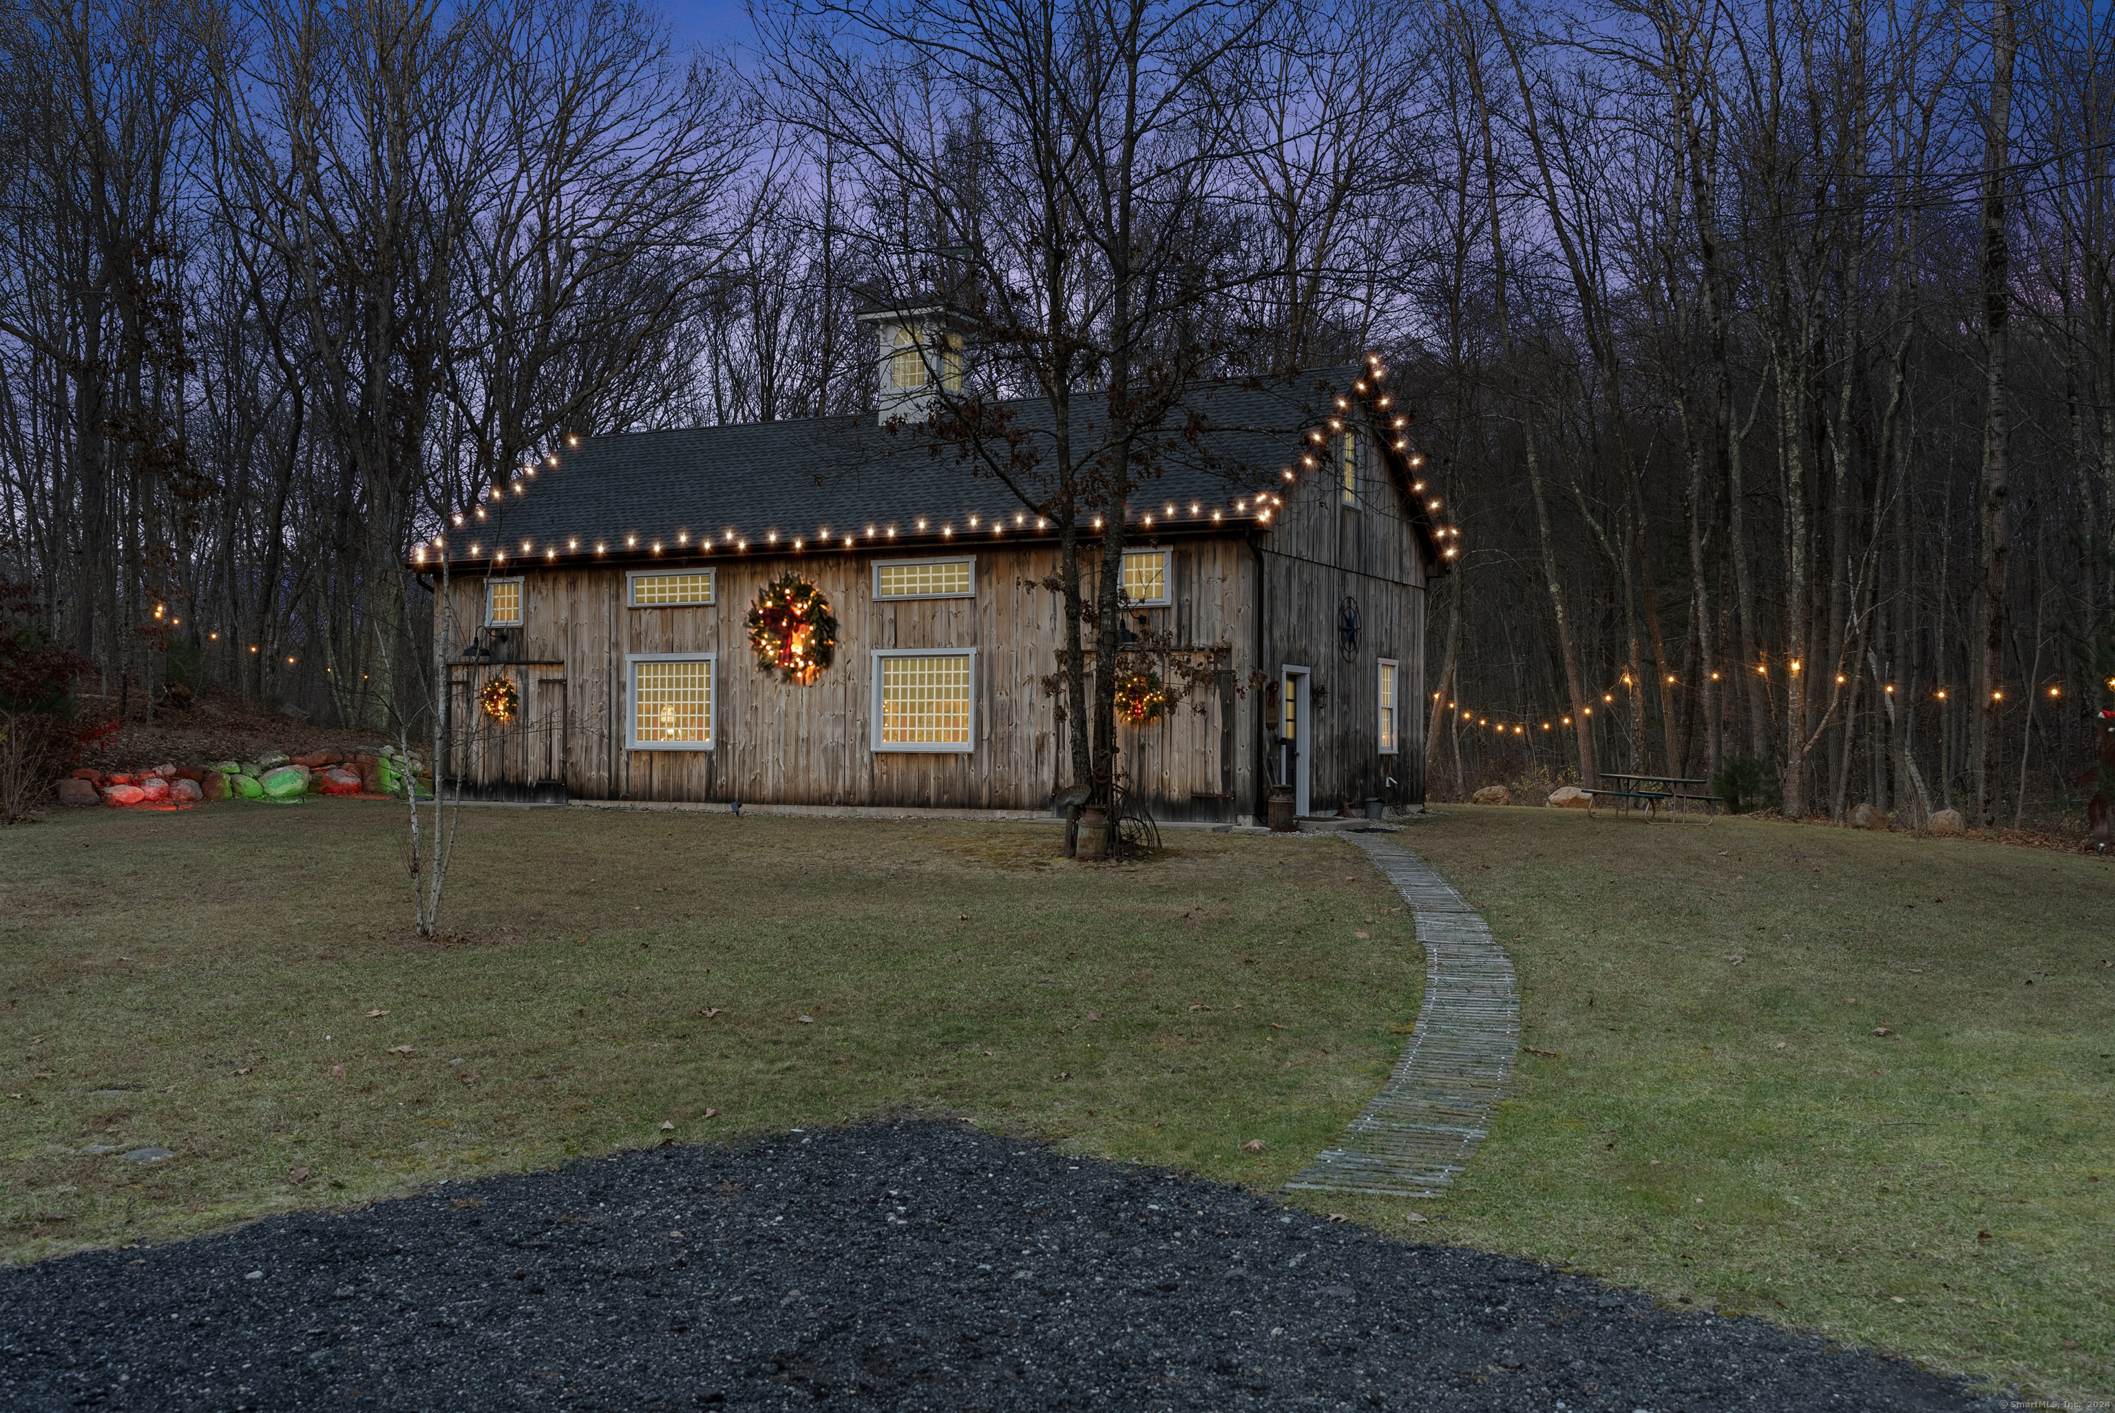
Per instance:
[[[1373,442],[1377,438],[1368,438]],[[1379,451],[1360,474],[1360,503],[1341,501],[1341,484],[1309,474],[1286,491],[1263,554],[1263,671],[1305,666],[1316,704],[1309,711],[1309,808],[1335,812],[1345,797],[1381,795],[1392,804],[1426,797],[1426,582],[1428,550],[1411,525],[1413,508]],[[1356,647],[1339,622],[1345,601],[1358,609]],[[1398,662],[1396,753],[1379,751],[1379,662]],[[1250,736],[1267,789],[1275,751],[1261,723]],[[1394,776],[1396,785],[1383,781]],[[1244,804],[1261,808],[1261,800]]]

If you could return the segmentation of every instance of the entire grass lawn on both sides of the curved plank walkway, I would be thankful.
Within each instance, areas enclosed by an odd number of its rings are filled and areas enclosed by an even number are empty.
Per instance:
[[[1275,1189],[1417,1009],[1409,918],[1343,840],[1068,865],[1047,827],[476,810],[467,941],[436,948],[398,825],[0,831],[8,1259],[901,1106]],[[1525,808],[1400,838],[1485,910],[1552,1053],[1447,1199],[1301,1201],[2115,1392],[2115,863]]]

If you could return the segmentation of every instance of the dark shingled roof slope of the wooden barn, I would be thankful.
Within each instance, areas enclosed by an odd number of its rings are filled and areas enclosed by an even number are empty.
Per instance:
[[[1191,387],[1167,419],[1155,455],[1159,474],[1142,484],[1134,512],[1155,514],[1161,529],[1163,506],[1174,503],[1167,529],[1208,527],[1214,510],[1233,520],[1235,503],[1246,501],[1239,518],[1248,520],[1258,491],[1286,489],[1282,472],[1301,455],[1301,436],[1362,372],[1345,364]],[[1003,406],[1047,457],[1049,402]],[[1096,396],[1074,404],[1077,438],[1098,434],[1104,406]],[[1195,440],[1182,434],[1193,417],[1201,429]],[[1015,533],[1022,510],[1000,480],[973,474],[954,444],[935,444],[922,425],[884,427],[873,412],[584,438],[560,453],[558,465],[516,480],[503,499],[484,501],[482,518],[470,514],[463,529],[450,531],[455,563],[484,561],[495,546],[516,565],[550,563],[550,550],[558,563],[580,554],[601,563],[639,558],[651,556],[654,544],[668,556],[704,537],[715,548],[747,542],[757,550],[774,533],[780,548],[793,539],[823,548],[825,535],[831,546],[846,535],[859,546],[916,546],[939,544],[943,525],[952,527],[952,544],[962,544],[971,533],[990,539],[994,516]],[[1191,503],[1203,508],[1197,520]],[[971,514],[979,531],[969,529]],[[1034,535],[1032,518],[1024,531]]]

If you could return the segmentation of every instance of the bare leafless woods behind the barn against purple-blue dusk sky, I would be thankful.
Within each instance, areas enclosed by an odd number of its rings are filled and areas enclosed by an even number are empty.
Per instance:
[[[1172,370],[1387,355],[1464,527],[1440,795],[1753,755],[1787,812],[2075,800],[2115,675],[2092,8],[1007,0],[757,34],[0,0],[0,567],[87,690],[417,713],[402,565],[448,512],[573,432],[871,406],[861,296],[973,277],[994,391],[1136,408]]]

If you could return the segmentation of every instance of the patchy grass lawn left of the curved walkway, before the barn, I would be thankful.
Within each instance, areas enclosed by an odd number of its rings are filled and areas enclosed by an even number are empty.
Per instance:
[[[1275,1187],[1379,1087],[1423,979],[1341,842],[1077,865],[1034,825],[465,810],[467,941],[429,946],[402,819],[0,831],[0,1254],[905,1106]]]

